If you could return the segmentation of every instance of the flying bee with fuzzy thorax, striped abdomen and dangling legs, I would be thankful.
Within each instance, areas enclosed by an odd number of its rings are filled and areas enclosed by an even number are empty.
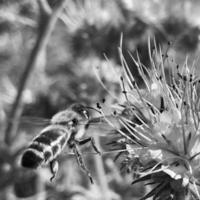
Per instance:
[[[85,125],[81,121],[88,121],[89,112],[82,104],[73,104],[68,109],[55,114],[50,125],[36,136],[24,151],[21,158],[22,167],[36,169],[42,165],[49,165],[52,181],[58,171],[57,157],[67,145],[72,149],[83,171],[88,175],[91,183],[92,177],[82,159],[78,145],[91,142],[94,150],[100,154],[92,137],[84,138]]]

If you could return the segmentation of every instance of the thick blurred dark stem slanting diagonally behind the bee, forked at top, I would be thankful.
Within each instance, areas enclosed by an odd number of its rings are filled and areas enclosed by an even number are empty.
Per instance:
[[[18,129],[19,118],[22,114],[22,109],[23,109],[23,102],[22,102],[23,92],[27,87],[30,75],[33,72],[33,69],[37,63],[37,59],[46,50],[46,46],[51,36],[51,33],[54,29],[59,14],[62,11],[65,3],[66,0],[60,0],[55,9],[52,11],[52,14],[50,15],[49,13],[45,13],[46,15],[43,15],[43,17],[45,16],[46,20],[41,19],[44,20],[43,27],[40,30],[38,37],[36,39],[35,46],[33,47],[33,50],[30,53],[30,57],[27,61],[25,70],[21,77],[21,82],[19,83],[17,96],[15,98],[15,101],[13,103],[13,106],[11,108],[8,117],[8,119],[12,120],[8,120],[8,124],[5,131],[5,143],[7,145],[10,145],[12,143],[13,138],[15,137]],[[40,3],[40,5],[43,5],[43,3]],[[43,9],[43,11],[45,11],[45,9]]]

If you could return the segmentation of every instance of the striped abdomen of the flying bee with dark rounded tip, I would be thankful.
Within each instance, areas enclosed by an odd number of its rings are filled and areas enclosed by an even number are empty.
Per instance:
[[[37,168],[55,159],[67,143],[70,132],[61,125],[45,128],[25,150],[21,164],[27,168]]]

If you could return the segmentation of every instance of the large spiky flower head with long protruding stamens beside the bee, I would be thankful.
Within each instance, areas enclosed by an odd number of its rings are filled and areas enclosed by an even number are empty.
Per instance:
[[[147,181],[153,185],[141,199],[200,199],[199,78],[187,60],[167,77],[164,65],[168,58],[155,42],[154,46],[154,53],[149,53],[151,69],[142,65],[139,56],[137,61],[133,58],[144,89],[139,89],[120,54],[126,101],[123,111],[116,115],[121,125],[117,131],[124,138],[130,163],[139,160],[139,178],[133,183]]]

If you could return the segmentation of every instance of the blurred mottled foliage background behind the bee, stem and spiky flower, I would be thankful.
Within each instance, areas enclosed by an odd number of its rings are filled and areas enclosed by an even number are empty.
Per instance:
[[[41,4],[43,2],[43,4]],[[56,180],[49,181],[48,168],[37,171],[20,167],[25,146],[59,110],[75,102],[94,106],[107,94],[94,73],[99,67],[103,82],[120,98],[121,71],[118,53],[123,35],[123,55],[138,85],[143,83],[129,53],[150,67],[148,38],[168,50],[166,70],[183,65],[198,66],[200,2],[198,0],[66,0],[47,45],[37,55],[31,73],[26,77],[21,98],[22,116],[32,120],[20,122],[14,137],[5,139],[13,104],[30,65],[34,48],[48,23],[44,5],[52,11],[58,0],[0,0],[0,199],[40,200],[137,200],[143,185],[131,186],[132,173],[120,170],[116,153],[85,154],[95,184],[80,171],[73,155],[63,153]],[[43,5],[43,7],[41,6]],[[47,9],[47,10],[48,10]],[[150,49],[151,50],[151,49]],[[28,64],[29,63],[29,64]],[[34,119],[38,120],[34,123]],[[98,127],[97,127],[98,129]],[[137,161],[135,161],[137,162]]]

